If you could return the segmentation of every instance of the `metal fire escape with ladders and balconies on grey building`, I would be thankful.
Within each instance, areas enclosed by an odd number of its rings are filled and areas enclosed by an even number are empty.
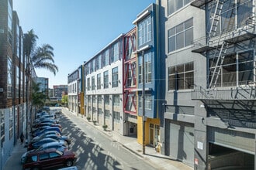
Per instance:
[[[209,4],[210,3],[210,4]],[[246,26],[235,29],[236,27],[236,8],[233,1],[228,0],[195,0],[191,3],[197,8],[206,8],[211,5],[209,11],[209,26],[207,26],[206,37],[194,42],[193,53],[201,53],[211,60],[209,64],[209,73],[207,76],[207,87],[195,86],[192,91],[192,99],[199,100],[240,100],[256,98],[255,86],[221,88],[217,86],[220,80],[221,68],[227,51],[230,46],[239,46],[239,42],[254,39],[255,34],[255,16],[247,18]],[[223,8],[229,8],[230,12],[223,15]],[[207,8],[208,10],[208,8]],[[207,12],[206,10],[206,12]],[[221,25],[220,25],[221,24]]]

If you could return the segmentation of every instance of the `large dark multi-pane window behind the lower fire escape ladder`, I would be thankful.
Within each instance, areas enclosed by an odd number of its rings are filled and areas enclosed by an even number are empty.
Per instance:
[[[216,73],[217,70],[220,70],[219,76],[213,77],[216,60],[217,58],[209,59],[210,78],[213,79],[213,83],[216,82],[216,87],[236,87],[254,82],[254,53],[252,50],[225,56],[222,66],[216,68]]]

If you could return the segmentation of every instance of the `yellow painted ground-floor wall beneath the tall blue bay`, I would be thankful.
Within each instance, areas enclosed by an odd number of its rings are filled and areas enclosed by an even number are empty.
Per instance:
[[[138,116],[137,117],[137,141],[139,144],[143,145],[143,118]],[[145,122],[145,144],[149,144],[149,126],[150,124],[157,124],[160,125],[160,119],[150,119],[147,118]]]

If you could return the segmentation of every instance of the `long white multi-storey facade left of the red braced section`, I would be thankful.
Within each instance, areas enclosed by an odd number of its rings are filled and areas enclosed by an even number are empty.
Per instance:
[[[89,59],[85,66],[85,113],[112,131],[123,129],[123,34]]]

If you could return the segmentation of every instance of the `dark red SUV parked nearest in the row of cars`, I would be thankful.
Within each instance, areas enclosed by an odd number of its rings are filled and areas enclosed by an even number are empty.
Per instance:
[[[77,160],[73,151],[58,151],[50,148],[44,151],[33,151],[26,155],[23,169],[53,169],[64,166],[70,167]]]

